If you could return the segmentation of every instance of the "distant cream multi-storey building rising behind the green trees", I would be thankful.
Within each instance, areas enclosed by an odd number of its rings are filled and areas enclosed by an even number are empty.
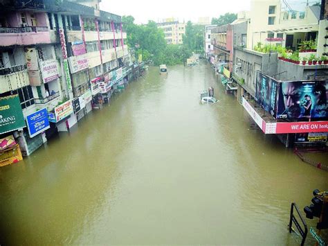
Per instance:
[[[158,28],[163,29],[167,44],[183,44],[185,35],[185,23],[179,23],[178,19],[168,18],[157,23]]]

